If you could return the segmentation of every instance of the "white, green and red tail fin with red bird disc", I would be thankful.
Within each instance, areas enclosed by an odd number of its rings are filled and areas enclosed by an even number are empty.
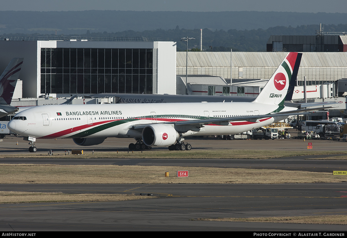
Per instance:
[[[293,94],[302,53],[289,52],[254,102],[283,106],[287,92]],[[295,80],[291,80],[292,78]],[[293,85],[292,85],[293,84]],[[293,86],[293,89],[288,90]]]

